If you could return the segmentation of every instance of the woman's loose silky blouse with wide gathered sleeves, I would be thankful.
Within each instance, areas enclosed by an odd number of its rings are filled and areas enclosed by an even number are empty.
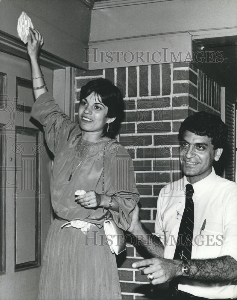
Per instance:
[[[82,207],[75,202],[75,191],[94,190],[102,194],[107,141],[84,141],[79,125],[63,113],[48,92],[34,103],[31,116],[44,126],[48,148],[54,154],[50,184],[54,212],[65,220],[79,219],[103,226],[103,208]],[[118,212],[108,209],[106,215],[112,215],[120,228],[128,229],[139,193],[130,155],[116,140],[111,140],[105,149],[104,194],[116,199],[119,206]]]

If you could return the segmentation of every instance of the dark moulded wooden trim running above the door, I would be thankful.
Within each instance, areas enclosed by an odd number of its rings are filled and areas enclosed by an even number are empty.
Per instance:
[[[0,30],[0,51],[18,56],[20,58],[24,58],[26,60],[29,59],[26,45],[19,38],[16,38],[13,35],[9,35],[6,32],[3,32],[1,30]],[[66,61],[56,55],[52,55],[51,53],[45,50],[41,50],[40,52],[39,64],[53,70],[65,69],[66,67],[70,67],[70,66],[82,69],[81,67],[72,64],[69,61]]]

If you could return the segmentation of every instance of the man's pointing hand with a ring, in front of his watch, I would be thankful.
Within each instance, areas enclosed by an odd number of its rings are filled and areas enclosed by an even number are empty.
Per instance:
[[[174,277],[182,275],[182,264],[181,260],[156,257],[134,262],[132,267],[142,268],[141,274],[147,275],[148,279],[150,274],[152,274],[154,279],[151,283],[159,284],[171,281]]]

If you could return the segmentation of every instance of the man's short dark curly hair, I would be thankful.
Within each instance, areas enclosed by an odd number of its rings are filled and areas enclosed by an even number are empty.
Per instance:
[[[224,148],[227,137],[228,128],[220,117],[207,112],[198,112],[187,117],[180,126],[178,139],[183,140],[185,131],[193,132],[197,135],[210,137],[214,150]]]

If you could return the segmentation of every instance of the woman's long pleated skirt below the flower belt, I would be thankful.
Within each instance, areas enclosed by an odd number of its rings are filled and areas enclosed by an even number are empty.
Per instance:
[[[74,227],[50,226],[39,282],[39,300],[122,299],[115,254],[104,228],[85,235]]]

